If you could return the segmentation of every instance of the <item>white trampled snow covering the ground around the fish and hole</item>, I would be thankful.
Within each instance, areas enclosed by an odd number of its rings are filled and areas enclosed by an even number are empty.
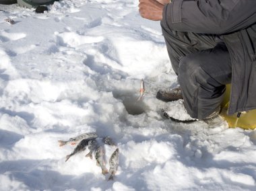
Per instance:
[[[63,0],[44,14],[0,5],[0,190],[256,189],[256,131],[162,117],[169,105],[156,92],[177,77],[160,23],[137,5]],[[114,181],[87,151],[65,162],[74,146],[57,141],[84,132],[117,143]]]

